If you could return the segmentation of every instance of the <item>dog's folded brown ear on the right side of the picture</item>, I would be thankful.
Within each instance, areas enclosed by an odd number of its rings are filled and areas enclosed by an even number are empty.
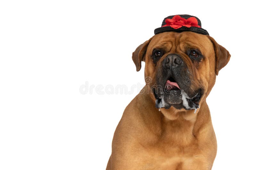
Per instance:
[[[230,54],[226,48],[219,45],[212,37],[209,36],[209,39],[212,41],[215,51],[215,73],[219,74],[221,68],[225,67],[228,64],[230,59]]]

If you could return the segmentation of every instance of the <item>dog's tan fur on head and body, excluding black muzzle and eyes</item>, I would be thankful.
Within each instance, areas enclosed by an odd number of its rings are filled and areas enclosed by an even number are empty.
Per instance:
[[[182,55],[191,71],[192,88],[203,85],[205,92],[195,114],[195,110],[173,107],[156,109],[150,87],[155,83],[156,69],[160,66],[152,62],[151,54],[159,46]],[[200,49],[205,56],[199,66],[186,57],[187,46]],[[152,82],[147,83],[142,89],[144,93],[138,94],[124,110],[106,169],[211,169],[217,142],[206,97],[215,83],[216,74],[227,64],[229,57],[228,51],[214,39],[194,32],[164,32],[140,45],[132,58],[137,71],[141,60],[146,62],[145,77],[151,77]]]

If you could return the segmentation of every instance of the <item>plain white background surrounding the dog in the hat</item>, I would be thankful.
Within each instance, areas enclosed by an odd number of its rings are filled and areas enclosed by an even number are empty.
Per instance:
[[[197,16],[231,54],[207,98],[219,169],[255,168],[255,5],[249,1],[1,1],[0,169],[105,169],[144,83],[132,52],[169,15]],[[104,89],[101,90],[104,92]],[[130,91],[130,90],[129,90]]]

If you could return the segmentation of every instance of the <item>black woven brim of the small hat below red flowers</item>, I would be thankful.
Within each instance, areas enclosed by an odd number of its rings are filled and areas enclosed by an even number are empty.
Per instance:
[[[182,26],[178,29],[174,29],[170,26],[164,26],[164,27],[156,28],[154,32],[155,32],[155,34],[159,34],[161,32],[169,32],[169,31],[173,31],[173,32],[191,31],[191,32],[196,32],[198,34],[209,35],[209,33],[205,29],[199,28],[199,27],[194,27],[194,26],[191,26],[189,28],[186,26]]]

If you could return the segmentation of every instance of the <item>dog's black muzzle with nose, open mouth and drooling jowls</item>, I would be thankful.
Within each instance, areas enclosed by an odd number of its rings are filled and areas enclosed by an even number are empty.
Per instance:
[[[153,88],[156,108],[169,109],[173,106],[190,110],[199,107],[201,90],[191,88],[190,73],[179,54],[168,54],[162,60],[156,84],[157,88]]]

